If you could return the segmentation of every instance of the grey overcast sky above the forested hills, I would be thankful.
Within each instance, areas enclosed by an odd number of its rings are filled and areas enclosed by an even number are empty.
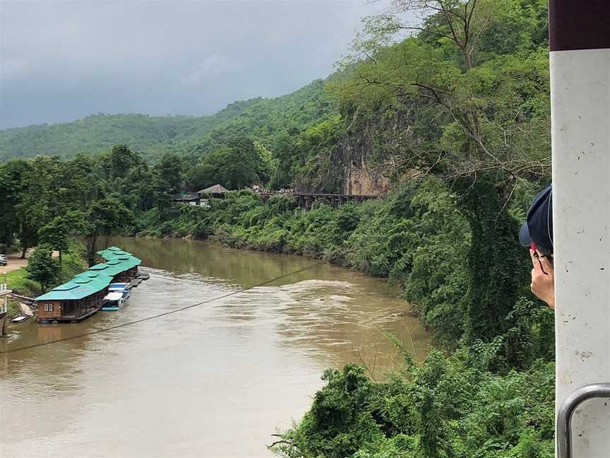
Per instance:
[[[384,2],[0,0],[0,129],[211,114],[333,71]]]

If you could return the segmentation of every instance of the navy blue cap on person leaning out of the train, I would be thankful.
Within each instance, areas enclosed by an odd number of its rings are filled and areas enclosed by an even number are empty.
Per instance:
[[[519,241],[524,247],[535,242],[542,254],[553,252],[552,186],[539,192],[534,198],[530,210],[527,211],[527,219],[519,230]]]

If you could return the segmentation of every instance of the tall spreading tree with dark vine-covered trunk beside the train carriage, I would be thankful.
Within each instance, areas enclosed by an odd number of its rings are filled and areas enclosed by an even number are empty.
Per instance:
[[[380,165],[398,176],[434,173],[460,197],[471,235],[465,334],[471,342],[492,341],[512,326],[508,317],[525,293],[527,259],[508,211],[511,199],[521,182],[550,170],[548,57],[529,33],[539,24],[532,11],[543,6],[518,0],[392,6],[366,23],[354,59],[345,62],[349,77],[335,83],[335,94],[352,126],[365,129],[379,112],[402,119],[409,135],[397,137],[398,147],[381,155]],[[409,22],[413,15],[418,23]],[[494,49],[491,39],[483,46],[482,37],[495,37],[503,23],[519,23],[515,18],[528,33],[511,35],[510,46]],[[405,28],[417,35],[388,45]]]

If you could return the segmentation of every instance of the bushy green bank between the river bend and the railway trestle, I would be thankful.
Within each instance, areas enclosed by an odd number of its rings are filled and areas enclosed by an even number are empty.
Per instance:
[[[380,199],[311,211],[297,208],[290,196],[263,203],[251,192],[232,192],[210,199],[208,209],[181,206],[165,221],[155,211],[145,213],[140,227],[143,237],[211,237],[229,247],[326,259],[387,278],[439,341],[455,343],[464,331],[459,298],[467,290],[470,229],[439,180],[414,180]]]

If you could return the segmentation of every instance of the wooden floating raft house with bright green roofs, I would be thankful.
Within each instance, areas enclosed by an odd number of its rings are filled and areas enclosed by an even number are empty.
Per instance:
[[[35,298],[40,322],[78,322],[102,307],[110,283],[128,283],[138,276],[141,260],[118,247],[97,252],[105,262],[91,266],[48,293]]]

